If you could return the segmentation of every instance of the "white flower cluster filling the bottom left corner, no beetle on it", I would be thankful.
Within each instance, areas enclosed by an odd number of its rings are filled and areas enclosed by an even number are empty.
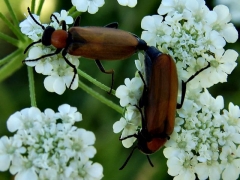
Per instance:
[[[10,116],[7,127],[15,132],[0,139],[0,170],[16,179],[92,179],[103,177],[103,168],[90,158],[96,154],[92,132],[74,126],[82,120],[67,104],[59,112],[25,108]]]

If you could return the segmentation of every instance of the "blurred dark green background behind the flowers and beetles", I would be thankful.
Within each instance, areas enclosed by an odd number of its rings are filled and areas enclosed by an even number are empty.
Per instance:
[[[27,14],[27,7],[31,5],[30,0],[10,1],[13,9],[20,20],[24,19],[23,13]],[[146,15],[153,15],[157,13],[157,9],[161,1],[139,1],[135,8],[128,8],[120,6],[117,0],[106,0],[105,5],[94,14],[82,14],[81,26],[104,26],[110,22],[118,22],[119,28],[132,32],[141,36],[141,20]],[[212,1],[207,1],[210,9],[213,7]],[[41,21],[49,22],[49,17],[52,12],[61,9],[70,9],[71,2],[64,0],[46,1],[42,14]],[[9,12],[2,1],[0,1],[0,11],[9,18]],[[238,27],[239,28],[239,27]],[[10,34],[11,31],[0,20],[0,31]],[[240,51],[239,41],[234,45],[228,45],[226,48],[233,48]],[[15,47],[0,40],[0,59],[15,50]],[[115,70],[114,87],[123,84],[126,77],[133,77],[135,73],[134,60],[137,59],[137,54],[124,61],[104,61],[103,64],[106,69]],[[239,59],[238,59],[239,61]],[[101,73],[94,61],[80,59],[80,67],[83,71],[95,77],[100,82],[110,85],[111,77]],[[228,109],[229,102],[235,105],[240,104],[240,83],[239,80],[240,68],[236,67],[233,73],[228,77],[228,82],[217,84],[210,89],[214,97],[222,95],[225,99],[225,109]],[[44,89],[43,80],[45,76],[35,73],[36,83],[36,98],[37,105],[43,111],[45,108],[52,108],[57,111],[57,107],[63,103],[68,103],[75,106],[83,114],[83,121],[78,123],[79,127],[93,131],[96,135],[96,149],[97,155],[93,159],[94,162],[99,162],[104,167],[105,180],[156,180],[156,179],[173,179],[167,174],[166,159],[163,156],[162,150],[151,155],[151,160],[154,164],[152,168],[147,161],[147,158],[139,151],[135,151],[133,157],[127,164],[124,170],[119,171],[119,167],[124,163],[130,153],[130,149],[122,147],[118,140],[120,134],[114,134],[112,125],[119,120],[121,114],[113,111],[106,105],[92,98],[81,89],[75,91],[67,90],[63,95],[59,96],[54,93],[49,93]],[[80,80],[89,84],[80,77]],[[90,87],[108,97],[115,103],[119,100],[92,84]],[[0,83],[0,135],[11,134],[7,131],[6,120],[16,111],[30,106],[27,67],[22,67],[17,70],[11,77],[5,79]],[[0,172],[0,180],[11,179],[11,175],[6,172]]]

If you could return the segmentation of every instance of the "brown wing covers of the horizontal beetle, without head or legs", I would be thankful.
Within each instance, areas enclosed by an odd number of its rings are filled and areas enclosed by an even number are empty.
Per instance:
[[[72,27],[68,53],[98,60],[121,60],[137,51],[138,39],[132,34],[106,27]]]

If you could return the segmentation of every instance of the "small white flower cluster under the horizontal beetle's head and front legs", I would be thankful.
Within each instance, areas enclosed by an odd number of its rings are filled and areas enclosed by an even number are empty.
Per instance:
[[[72,24],[73,18],[68,16],[68,13],[65,10],[59,13],[53,13],[59,22],[62,20],[66,21],[66,24]],[[40,23],[39,16],[34,15],[33,17]],[[49,26],[54,27],[55,29],[62,29],[59,25],[59,22],[55,18],[52,18],[52,22]],[[40,23],[41,24],[41,23]],[[42,24],[44,27],[48,25]],[[27,35],[33,41],[38,41],[42,38],[44,30],[34,22],[31,16],[28,16],[26,20],[20,23],[21,32]],[[43,55],[54,53],[56,48],[52,46],[44,46],[42,43],[37,43],[32,46],[29,50],[28,57],[29,59],[36,59]],[[71,56],[67,54],[66,58],[77,68],[79,66],[79,60],[77,56]],[[54,56],[49,56],[42,58],[37,61],[26,61],[26,64],[31,67],[35,67],[37,73],[47,75],[44,80],[45,88],[50,92],[56,92],[57,94],[63,94],[66,90],[66,87],[69,87],[73,76],[73,68],[71,68],[66,61],[63,59],[61,54]],[[71,89],[76,89],[78,87],[78,75],[74,78],[74,81],[71,85]]]

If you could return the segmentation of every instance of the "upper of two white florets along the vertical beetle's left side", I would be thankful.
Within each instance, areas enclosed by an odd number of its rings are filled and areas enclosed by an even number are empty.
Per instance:
[[[141,97],[143,82],[140,77],[134,77],[132,80],[126,78],[124,83],[116,89],[116,96],[120,99],[120,105],[125,107],[128,104],[137,105]]]

